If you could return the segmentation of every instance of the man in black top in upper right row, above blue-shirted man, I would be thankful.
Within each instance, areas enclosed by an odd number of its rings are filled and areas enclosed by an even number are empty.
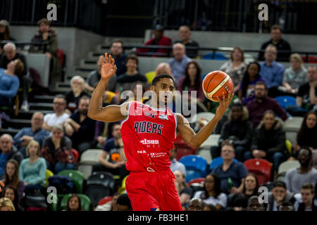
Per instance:
[[[290,58],[290,52],[282,52],[282,51],[292,51],[290,44],[288,44],[285,39],[282,39],[282,29],[280,25],[273,25],[271,27],[271,40],[266,41],[262,44],[261,50],[263,51],[270,44],[273,44],[278,51],[278,61],[287,61]],[[263,52],[259,53],[259,60],[263,60]]]

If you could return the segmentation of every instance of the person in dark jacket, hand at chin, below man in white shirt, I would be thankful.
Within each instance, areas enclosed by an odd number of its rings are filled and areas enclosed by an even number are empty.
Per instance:
[[[76,169],[71,149],[72,141],[64,136],[63,127],[55,125],[51,129],[51,136],[45,139],[42,148],[42,157],[46,160],[47,169],[54,174],[65,169]]]

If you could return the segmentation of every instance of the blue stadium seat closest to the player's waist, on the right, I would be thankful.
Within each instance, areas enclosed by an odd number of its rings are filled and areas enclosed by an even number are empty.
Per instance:
[[[206,176],[207,161],[199,155],[186,155],[180,159],[186,167],[186,182]]]

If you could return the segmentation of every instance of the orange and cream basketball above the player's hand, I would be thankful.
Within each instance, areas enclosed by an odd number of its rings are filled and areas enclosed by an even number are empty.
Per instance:
[[[206,98],[218,102],[217,96],[222,100],[223,92],[225,93],[225,98],[227,98],[229,91],[233,91],[232,79],[228,74],[220,70],[209,72],[202,82],[202,89]]]

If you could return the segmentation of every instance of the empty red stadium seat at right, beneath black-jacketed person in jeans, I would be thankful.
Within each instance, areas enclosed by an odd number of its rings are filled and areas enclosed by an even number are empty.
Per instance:
[[[272,165],[268,160],[249,159],[244,162],[244,165],[250,173],[256,174],[259,186],[271,180]]]

